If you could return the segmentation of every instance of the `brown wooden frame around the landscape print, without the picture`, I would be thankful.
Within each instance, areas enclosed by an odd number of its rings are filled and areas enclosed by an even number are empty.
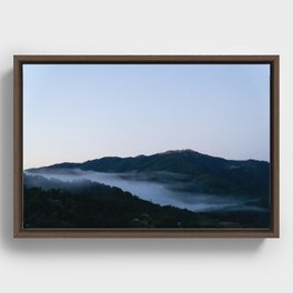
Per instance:
[[[270,67],[270,224],[259,228],[33,228],[23,225],[23,65],[266,64]],[[14,238],[279,238],[279,55],[14,55]],[[41,99],[41,98],[40,98]],[[38,123],[38,121],[36,121]],[[141,220],[138,220],[141,221]]]

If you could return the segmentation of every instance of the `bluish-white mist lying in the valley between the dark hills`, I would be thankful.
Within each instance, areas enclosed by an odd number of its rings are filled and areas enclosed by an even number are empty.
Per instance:
[[[262,211],[252,198],[188,192],[191,184],[184,174],[171,172],[103,173],[80,169],[24,171],[27,186],[67,189],[78,192],[93,182],[117,186],[142,200],[173,205],[193,212]]]

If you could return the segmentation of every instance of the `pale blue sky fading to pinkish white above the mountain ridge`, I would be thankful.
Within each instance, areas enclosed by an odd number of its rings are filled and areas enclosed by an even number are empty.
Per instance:
[[[269,64],[23,64],[23,166],[169,150],[270,160]]]

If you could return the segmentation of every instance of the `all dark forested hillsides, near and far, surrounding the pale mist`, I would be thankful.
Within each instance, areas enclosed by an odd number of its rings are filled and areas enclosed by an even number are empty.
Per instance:
[[[42,176],[46,173],[62,175],[81,171],[119,173],[125,180],[137,180],[148,174],[145,182],[160,182],[179,193],[244,199],[251,202],[251,206],[246,210],[193,212],[171,205],[161,206],[133,195],[135,192],[131,194],[100,184],[100,181],[84,181],[81,184],[78,180],[55,182]],[[30,174],[28,176],[24,172],[27,229],[267,228],[270,224],[270,163],[265,161],[233,161],[182,150],[60,163],[27,172]],[[131,179],[133,174],[135,178]]]

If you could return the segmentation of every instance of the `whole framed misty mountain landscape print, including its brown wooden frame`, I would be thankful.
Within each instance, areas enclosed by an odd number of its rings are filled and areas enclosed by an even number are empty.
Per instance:
[[[14,238],[277,236],[277,55],[14,55]]]

